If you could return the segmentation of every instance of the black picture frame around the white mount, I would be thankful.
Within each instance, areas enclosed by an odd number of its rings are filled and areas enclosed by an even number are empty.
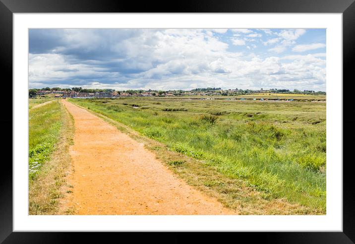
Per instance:
[[[248,12],[248,13],[343,13],[343,232],[283,232],[283,233],[230,233],[245,237],[249,241],[260,240],[263,243],[355,243],[355,197],[351,166],[353,161],[345,160],[349,155],[351,139],[354,138],[355,119],[352,118],[352,94],[354,78],[352,61],[355,60],[355,0],[179,0],[162,2],[119,1],[119,0],[0,0],[0,67],[2,85],[12,91],[12,14],[13,13],[82,13],[82,12]],[[332,81],[337,82],[337,81]],[[7,92],[8,93],[8,92]],[[12,94],[15,98],[16,94]],[[7,96],[6,96],[7,97]],[[7,98],[7,100],[9,100]],[[3,106],[0,118],[1,128],[13,128],[12,106]],[[10,130],[3,129],[3,133]],[[11,138],[11,139],[10,139]],[[12,152],[12,135],[6,140],[4,152]],[[10,140],[10,141],[8,141]],[[347,143],[348,142],[348,143]],[[12,162],[12,156],[10,156]],[[348,158],[350,159],[350,157]],[[117,233],[25,233],[12,231],[12,164],[2,162],[0,177],[0,242],[3,243],[64,243],[74,241],[73,236],[90,243],[104,243]],[[124,238],[122,234],[120,238]],[[130,235],[132,236],[132,235]],[[134,236],[134,235],[133,235]],[[136,236],[135,236],[136,237]],[[159,240],[148,235],[154,241],[184,242],[185,235],[175,233],[168,239],[160,235]],[[211,240],[210,234],[203,236]],[[234,237],[235,238],[235,237]],[[164,240],[165,239],[165,240]],[[123,240],[123,239],[122,239]],[[136,240],[136,239],[134,239]],[[145,237],[145,241],[147,237]],[[200,241],[202,241],[200,239]],[[248,241],[248,242],[249,242]]]

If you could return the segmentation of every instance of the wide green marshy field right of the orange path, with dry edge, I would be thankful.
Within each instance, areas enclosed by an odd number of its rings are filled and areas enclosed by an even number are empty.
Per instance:
[[[163,147],[150,147],[158,158],[242,214],[326,213],[326,103],[68,100],[159,142]],[[280,201],[296,207],[278,211]],[[279,205],[260,210],[268,202]]]

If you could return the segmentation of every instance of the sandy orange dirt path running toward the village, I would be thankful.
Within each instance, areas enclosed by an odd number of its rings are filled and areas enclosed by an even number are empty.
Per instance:
[[[75,121],[66,207],[74,205],[80,215],[236,214],[177,178],[142,143],[63,103]]]

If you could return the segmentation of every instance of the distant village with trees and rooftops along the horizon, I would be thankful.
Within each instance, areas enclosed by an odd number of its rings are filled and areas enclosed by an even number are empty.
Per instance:
[[[236,96],[253,93],[291,93],[291,94],[311,94],[311,95],[326,95],[324,91],[314,90],[297,90],[290,91],[289,89],[263,89],[260,90],[243,90],[243,89],[226,89],[216,87],[196,88],[191,90],[122,90],[114,89],[86,89],[81,87],[59,88],[46,87],[41,89],[29,89],[29,98],[36,98],[54,94],[55,97],[70,97],[70,98],[115,98],[115,97],[130,97],[130,96]]]

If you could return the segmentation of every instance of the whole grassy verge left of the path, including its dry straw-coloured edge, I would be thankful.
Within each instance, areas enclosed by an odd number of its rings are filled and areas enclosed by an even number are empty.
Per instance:
[[[59,214],[73,119],[59,101],[29,111],[29,214]]]

